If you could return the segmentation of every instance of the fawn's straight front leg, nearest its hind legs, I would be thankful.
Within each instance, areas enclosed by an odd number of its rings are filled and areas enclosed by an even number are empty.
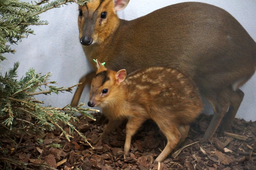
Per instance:
[[[142,123],[146,120],[142,115],[141,117],[135,117],[128,119],[126,124],[126,138],[124,144],[124,154],[129,156],[132,136],[137,132]]]

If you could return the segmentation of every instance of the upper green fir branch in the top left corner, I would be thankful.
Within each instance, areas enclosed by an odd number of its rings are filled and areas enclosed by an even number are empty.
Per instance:
[[[2,55],[5,52],[15,52],[6,42],[17,44],[18,41],[34,34],[34,31],[27,28],[30,25],[47,25],[47,21],[40,21],[39,14],[52,8],[75,2],[83,5],[89,0],[41,0],[33,3],[20,2],[19,0],[0,1],[0,62],[6,58]],[[47,3],[46,5],[44,5]]]

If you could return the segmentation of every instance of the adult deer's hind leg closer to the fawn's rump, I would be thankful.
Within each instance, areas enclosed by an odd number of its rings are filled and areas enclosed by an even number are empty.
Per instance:
[[[216,132],[220,122],[222,121],[228,107],[229,107],[229,90],[212,91],[212,93],[204,94],[204,97],[209,101],[213,108],[213,118],[204,133],[204,140],[211,138]]]

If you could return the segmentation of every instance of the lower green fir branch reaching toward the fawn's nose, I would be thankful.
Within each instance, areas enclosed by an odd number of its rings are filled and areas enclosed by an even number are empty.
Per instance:
[[[13,123],[14,123],[13,120],[15,119],[16,121],[22,121],[24,124],[27,124],[27,127],[30,125],[29,126],[30,128],[34,127],[34,129],[37,129],[37,130],[45,129],[46,127],[48,127],[48,129],[51,130],[51,129],[54,129],[54,126],[55,126],[61,129],[62,134],[64,134],[66,139],[69,140],[69,138],[71,138],[72,136],[66,133],[66,131],[64,131],[62,127],[60,127],[57,123],[58,121],[62,121],[66,125],[68,125],[71,129],[73,129],[76,133],[78,133],[85,140],[85,142],[89,144],[86,137],[83,136],[78,130],[76,130],[76,128],[69,123],[69,120],[70,119],[77,120],[76,116],[73,116],[73,114],[80,113],[95,121],[95,119],[89,114],[89,112],[99,112],[98,110],[83,108],[82,106],[84,104],[80,104],[77,107],[71,107],[69,104],[63,108],[43,107],[41,106],[42,102],[34,100],[33,98],[29,97],[36,94],[45,94],[45,93],[51,94],[51,92],[57,93],[58,91],[63,91],[63,90],[71,91],[73,87],[79,84],[76,84],[68,88],[54,88],[52,86],[49,86],[49,84],[51,83],[56,83],[55,81],[48,82],[48,79],[51,76],[49,73],[41,76],[41,74],[36,73],[34,69],[30,69],[26,73],[26,76],[22,77],[20,80],[10,81],[17,76],[16,70],[18,66],[19,66],[19,63],[16,63],[14,65],[14,68],[10,69],[9,72],[5,73],[4,77],[3,76],[0,77],[0,86],[8,87],[7,90],[9,89],[12,92],[12,93],[8,92],[9,97],[2,98],[7,101],[7,104],[5,104],[5,107],[2,109],[2,113],[3,111],[5,112],[5,114],[8,113],[6,119],[3,121],[4,125],[7,125],[8,127],[13,126]],[[14,87],[11,88],[12,86]],[[16,88],[16,86],[18,86],[19,88]],[[52,90],[34,92],[35,90],[38,89],[38,87],[41,87],[41,86],[49,87]],[[32,90],[32,91],[28,92],[28,90]],[[19,96],[22,96],[22,98],[19,98]],[[21,110],[25,112],[27,115],[37,118],[38,119],[37,125],[35,123],[29,122],[23,119],[22,117],[17,117],[16,115],[17,110]],[[38,126],[38,124],[41,124],[41,126]],[[43,127],[42,125],[45,127]],[[28,133],[33,133],[33,131],[30,132],[31,129],[28,129],[28,128],[20,128],[20,130],[29,130]],[[91,144],[89,145],[91,146]]]

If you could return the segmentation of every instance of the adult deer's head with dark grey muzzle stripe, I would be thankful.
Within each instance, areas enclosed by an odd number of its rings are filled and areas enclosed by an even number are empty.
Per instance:
[[[130,0],[92,0],[79,5],[80,43],[101,44],[119,25],[116,11],[123,10]]]

